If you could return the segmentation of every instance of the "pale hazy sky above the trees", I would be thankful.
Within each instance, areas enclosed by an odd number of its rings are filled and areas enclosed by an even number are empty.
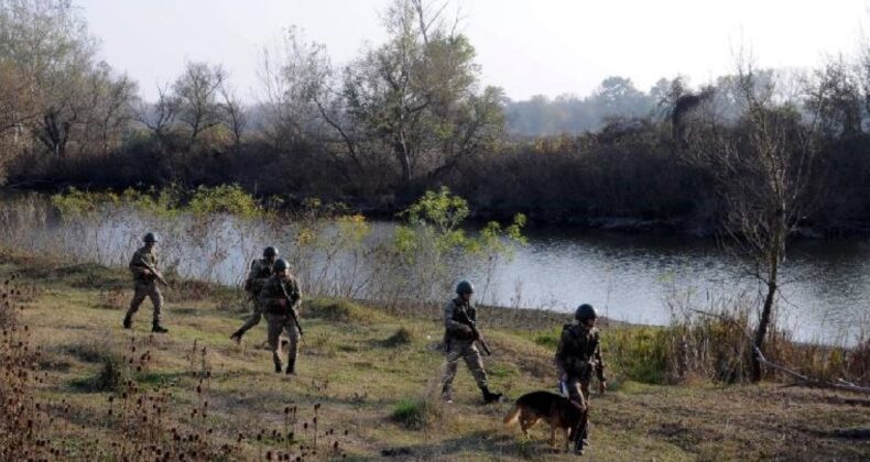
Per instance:
[[[389,0],[77,0],[102,55],[149,99],[185,61],[222,63],[247,96],[262,46],[300,26],[334,63],[385,34]],[[512,99],[588,95],[606,77],[646,90],[677,74],[700,84],[729,70],[748,45],[762,67],[818,65],[855,55],[868,0],[454,0],[482,81]]]

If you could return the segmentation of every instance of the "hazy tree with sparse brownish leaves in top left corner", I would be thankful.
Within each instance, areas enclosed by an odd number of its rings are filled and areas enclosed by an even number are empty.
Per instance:
[[[17,123],[57,158],[70,145],[85,152],[96,142],[108,151],[129,120],[135,85],[115,76],[96,52],[70,1],[0,1],[0,67],[20,77],[33,103]]]

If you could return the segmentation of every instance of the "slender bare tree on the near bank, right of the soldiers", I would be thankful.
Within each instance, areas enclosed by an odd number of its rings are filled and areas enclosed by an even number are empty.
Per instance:
[[[753,338],[757,351],[763,351],[787,239],[813,206],[808,188],[817,143],[814,123],[802,123],[794,105],[776,103],[773,81],[760,85],[751,65],[740,65],[730,84],[731,98],[741,109],[737,120],[722,120],[715,99],[707,98],[678,118],[692,130],[674,132],[687,134],[678,143],[684,158],[714,175],[727,208],[724,228],[739,253],[752,260],[764,285]],[[751,375],[761,378],[758,355]]]

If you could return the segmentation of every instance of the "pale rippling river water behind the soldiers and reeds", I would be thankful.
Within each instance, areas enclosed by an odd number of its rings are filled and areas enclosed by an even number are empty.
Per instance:
[[[160,229],[154,222],[130,213],[83,220],[76,224],[78,242],[74,244],[83,249],[81,256],[123,265],[138,245],[137,239],[146,229]],[[383,240],[394,227],[391,222],[370,226],[372,232],[363,246]],[[46,228],[43,241],[63,228]],[[196,239],[188,232],[164,230],[161,245],[174,249],[168,253],[180,256],[180,274],[238,284],[250,258],[263,246],[274,244],[283,254],[294,252],[290,233],[270,234],[264,228],[255,221],[239,223],[225,217],[211,222]],[[738,294],[754,304],[761,294],[758,279],[748,275],[747,266],[711,240],[572,229],[529,230],[526,235],[529,243],[515,248],[512,258],[501,258],[490,271],[452,265],[455,271],[450,277],[475,282],[486,304],[569,312],[578,304],[589,302],[612,319],[650,324],[667,323],[675,306],[704,309]],[[99,248],[96,258],[94,248]],[[341,258],[348,256],[337,260]],[[317,266],[324,256],[312,261],[319,262],[312,265]],[[367,262],[356,264],[365,274]],[[306,277],[318,272],[309,268]],[[359,295],[372,296],[365,289]],[[781,327],[802,341],[853,344],[864,338],[864,327],[870,327],[868,307],[867,240],[804,240],[791,244],[777,299]]]

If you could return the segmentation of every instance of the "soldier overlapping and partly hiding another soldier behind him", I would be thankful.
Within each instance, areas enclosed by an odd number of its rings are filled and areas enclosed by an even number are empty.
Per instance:
[[[260,307],[269,322],[269,348],[272,349],[272,360],[275,372],[281,372],[280,344],[281,332],[290,337],[290,352],[287,358],[287,374],[296,373],[296,353],[298,352],[302,329],[298,324],[298,302],[302,299],[296,278],[290,274],[290,265],[284,258],[279,258],[272,265],[273,275],[263,284],[260,290]]]

